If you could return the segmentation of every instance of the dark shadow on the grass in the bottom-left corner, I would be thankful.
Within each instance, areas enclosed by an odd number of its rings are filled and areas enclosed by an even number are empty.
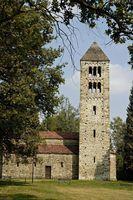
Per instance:
[[[34,195],[29,194],[8,194],[0,195],[0,200],[37,200],[38,198]]]

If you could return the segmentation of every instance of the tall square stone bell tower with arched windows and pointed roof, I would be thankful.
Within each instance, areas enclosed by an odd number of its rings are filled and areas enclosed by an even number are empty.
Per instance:
[[[110,179],[109,59],[94,42],[81,58],[79,179]]]

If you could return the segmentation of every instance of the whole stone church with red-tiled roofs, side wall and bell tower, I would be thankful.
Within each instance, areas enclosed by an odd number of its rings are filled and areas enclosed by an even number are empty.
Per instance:
[[[109,59],[94,42],[80,60],[79,133],[40,132],[38,162],[3,165],[13,178],[116,180],[116,157],[110,150]]]

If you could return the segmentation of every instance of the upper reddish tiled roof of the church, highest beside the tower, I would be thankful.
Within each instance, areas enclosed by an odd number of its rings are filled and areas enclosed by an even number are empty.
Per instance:
[[[39,135],[44,139],[67,139],[67,140],[78,140],[78,133],[57,133],[55,131],[40,131]]]

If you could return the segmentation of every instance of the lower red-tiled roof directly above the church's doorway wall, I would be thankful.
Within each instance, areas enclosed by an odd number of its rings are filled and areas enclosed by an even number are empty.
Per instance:
[[[78,146],[39,145],[40,154],[78,154]]]

